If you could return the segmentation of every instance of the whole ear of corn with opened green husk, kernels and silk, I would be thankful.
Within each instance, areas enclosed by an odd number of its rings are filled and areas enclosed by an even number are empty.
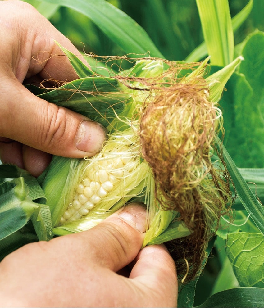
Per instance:
[[[63,50],[83,77],[83,64]],[[219,213],[231,202],[211,157],[222,125],[215,104],[241,60],[204,79],[208,58],[197,64],[139,59],[112,77],[89,69],[88,77],[39,94],[92,116],[109,137],[93,158],[55,156],[39,179],[54,234],[87,230],[127,202],[140,201],[148,212],[143,246],[186,237],[180,245],[187,243],[195,273]],[[193,249],[199,253],[191,257]]]

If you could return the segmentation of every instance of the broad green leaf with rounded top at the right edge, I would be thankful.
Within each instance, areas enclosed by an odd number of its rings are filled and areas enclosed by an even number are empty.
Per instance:
[[[230,78],[227,93],[223,93],[227,107],[223,113],[225,130],[231,124],[225,147],[239,167],[264,167],[263,50],[263,32],[256,31],[245,39],[240,51],[245,61],[239,66],[239,75]],[[232,119],[228,119],[230,114]]]

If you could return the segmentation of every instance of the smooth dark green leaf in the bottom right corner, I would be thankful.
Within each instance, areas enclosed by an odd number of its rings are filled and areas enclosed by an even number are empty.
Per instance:
[[[210,296],[197,307],[262,307],[263,288],[233,288]]]

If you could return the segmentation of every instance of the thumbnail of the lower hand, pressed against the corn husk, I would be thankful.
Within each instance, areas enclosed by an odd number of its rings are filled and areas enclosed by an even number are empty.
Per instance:
[[[125,206],[118,216],[139,232],[146,232],[146,209],[138,203]]]

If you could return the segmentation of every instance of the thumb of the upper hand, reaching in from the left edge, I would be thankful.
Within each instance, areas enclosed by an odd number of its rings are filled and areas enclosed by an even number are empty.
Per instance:
[[[36,97],[17,80],[9,79],[5,87],[0,136],[64,157],[93,156],[102,149],[102,125]]]

